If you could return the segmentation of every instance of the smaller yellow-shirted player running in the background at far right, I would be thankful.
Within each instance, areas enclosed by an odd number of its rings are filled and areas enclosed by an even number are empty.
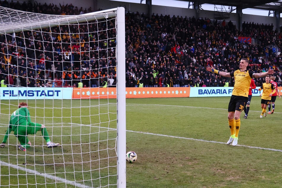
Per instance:
[[[266,107],[271,101],[271,96],[276,93],[275,86],[269,82],[270,81],[270,76],[265,77],[265,83],[262,84],[262,87],[259,88],[259,91],[262,91],[262,100],[261,100],[261,105],[262,105],[262,114],[260,115],[260,118],[262,118],[262,115],[265,114],[264,116],[266,117],[267,111]]]

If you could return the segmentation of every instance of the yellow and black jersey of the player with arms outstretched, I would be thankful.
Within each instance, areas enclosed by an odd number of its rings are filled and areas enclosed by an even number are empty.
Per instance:
[[[230,72],[230,76],[235,80],[232,95],[248,97],[252,75],[253,72],[247,70],[241,72],[238,69]]]

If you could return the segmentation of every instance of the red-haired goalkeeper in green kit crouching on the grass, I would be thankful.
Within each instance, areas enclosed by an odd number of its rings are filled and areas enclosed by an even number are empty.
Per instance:
[[[9,128],[6,131],[6,135],[4,136],[0,147],[5,147],[9,134],[11,133],[11,131],[14,131],[14,135],[20,141],[20,145],[18,145],[17,147],[22,151],[26,151],[26,149],[31,146],[31,142],[28,140],[27,135],[36,134],[36,132],[39,130],[41,131],[43,138],[47,142],[48,148],[57,147],[60,145],[59,143],[53,143],[50,141],[45,125],[31,122],[28,105],[27,103],[22,102],[19,104],[19,109],[14,111],[10,117]]]

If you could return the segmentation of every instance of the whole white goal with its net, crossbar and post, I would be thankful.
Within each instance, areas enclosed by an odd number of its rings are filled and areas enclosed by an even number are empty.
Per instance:
[[[0,18],[0,186],[125,187],[124,8]],[[9,123],[21,102],[59,146]]]

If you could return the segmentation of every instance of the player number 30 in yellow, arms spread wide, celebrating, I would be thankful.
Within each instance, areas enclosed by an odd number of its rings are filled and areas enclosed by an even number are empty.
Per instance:
[[[271,68],[269,68],[267,72],[261,73],[248,71],[248,65],[249,60],[242,58],[240,60],[239,69],[236,71],[223,72],[214,69],[214,67],[207,67],[207,70],[210,72],[219,74],[222,77],[234,77],[235,80],[232,96],[228,105],[228,122],[231,136],[227,141],[227,144],[232,143],[232,146],[236,146],[238,144],[238,134],[241,125],[240,115],[248,101],[248,93],[252,77],[261,78],[267,76],[268,74],[273,74],[273,70]]]

